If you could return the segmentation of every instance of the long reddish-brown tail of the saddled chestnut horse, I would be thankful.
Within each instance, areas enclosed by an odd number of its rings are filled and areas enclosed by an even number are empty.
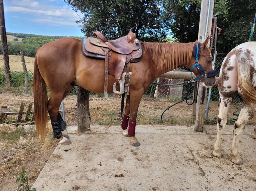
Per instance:
[[[39,50],[38,50],[39,51]],[[37,51],[37,53],[38,53]],[[38,139],[43,142],[46,134],[47,120],[47,91],[46,84],[39,72],[37,65],[37,53],[34,62],[34,116]]]

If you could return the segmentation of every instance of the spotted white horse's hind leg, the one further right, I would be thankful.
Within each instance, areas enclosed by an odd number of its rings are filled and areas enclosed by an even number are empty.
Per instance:
[[[239,142],[239,137],[245,128],[245,125],[252,117],[253,117],[253,113],[251,112],[250,107],[248,105],[243,105],[239,113],[238,119],[235,122],[234,130],[233,130],[234,137],[233,137],[232,147],[230,150],[230,156],[231,156],[231,161],[234,164],[238,164],[238,165],[243,164],[243,160],[238,156],[238,142]]]

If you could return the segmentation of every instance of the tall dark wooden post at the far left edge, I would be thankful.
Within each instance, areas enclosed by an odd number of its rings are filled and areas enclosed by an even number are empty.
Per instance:
[[[11,90],[11,80],[10,80],[11,72],[10,72],[8,45],[7,45],[7,37],[6,37],[6,30],[5,30],[3,0],[0,0],[0,34],[1,34],[1,41],[2,41],[2,49],[3,49],[5,86],[7,90],[10,91]]]

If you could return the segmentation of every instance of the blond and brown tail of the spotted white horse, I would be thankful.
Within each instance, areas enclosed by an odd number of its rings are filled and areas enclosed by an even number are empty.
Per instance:
[[[251,103],[256,104],[256,90],[251,84],[250,78],[250,55],[247,52],[240,52],[236,55],[237,71],[238,71],[238,88],[241,92],[241,97],[254,112]]]

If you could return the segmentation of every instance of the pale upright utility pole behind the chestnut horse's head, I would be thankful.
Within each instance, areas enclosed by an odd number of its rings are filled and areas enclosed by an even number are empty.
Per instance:
[[[209,38],[211,38],[213,8],[214,8],[214,0],[202,0],[199,31],[198,31],[198,41],[201,43],[203,43],[208,36]],[[210,40],[207,45],[208,46],[210,45]],[[196,112],[196,121],[195,121],[194,131],[203,132],[205,115],[200,115],[200,113],[206,112],[206,102],[207,102],[206,95],[207,95],[207,89],[205,89],[205,95],[203,97],[203,86],[202,86],[202,82],[200,82],[197,103],[196,103],[197,112]],[[202,104],[202,99],[204,99],[203,104]]]

